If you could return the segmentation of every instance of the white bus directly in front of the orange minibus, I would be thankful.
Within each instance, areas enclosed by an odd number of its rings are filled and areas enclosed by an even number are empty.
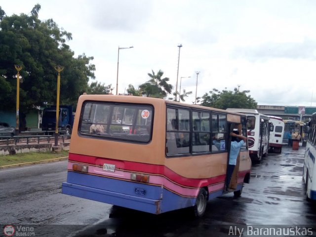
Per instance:
[[[260,161],[268,154],[269,149],[269,117],[259,114],[254,109],[233,109],[227,111],[242,113],[247,116],[247,133],[249,155],[253,160]]]

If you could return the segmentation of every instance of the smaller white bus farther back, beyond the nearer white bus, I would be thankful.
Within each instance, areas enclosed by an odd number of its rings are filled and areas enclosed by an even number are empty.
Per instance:
[[[283,119],[276,116],[269,116],[270,120],[270,136],[269,136],[269,151],[281,153],[284,122]]]

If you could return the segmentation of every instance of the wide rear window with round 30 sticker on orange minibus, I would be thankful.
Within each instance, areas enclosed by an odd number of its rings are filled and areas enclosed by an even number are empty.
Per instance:
[[[81,111],[82,135],[135,142],[151,140],[152,106],[87,102]]]

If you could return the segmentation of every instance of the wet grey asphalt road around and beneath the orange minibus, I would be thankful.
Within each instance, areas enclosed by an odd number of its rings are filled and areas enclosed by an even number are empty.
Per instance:
[[[304,150],[283,147],[281,154],[252,164],[250,184],[245,184],[241,197],[231,193],[211,200],[198,220],[188,209],[156,216],[62,195],[67,161],[4,169],[0,224],[33,226],[36,236],[77,237],[239,236],[230,228],[314,225],[316,236],[316,203],[306,200],[302,180]]]

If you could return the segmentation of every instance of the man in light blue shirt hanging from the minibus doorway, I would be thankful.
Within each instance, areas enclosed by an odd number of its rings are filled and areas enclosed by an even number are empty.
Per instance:
[[[232,136],[232,142],[231,142],[231,150],[229,154],[229,163],[227,166],[227,173],[226,173],[226,191],[232,192],[234,189],[229,188],[229,184],[232,179],[232,174],[234,172],[236,163],[237,163],[237,157],[239,155],[240,148],[246,143],[247,138],[245,136],[239,135],[241,133],[241,124],[237,125],[238,131],[233,131],[230,133],[230,136]]]

